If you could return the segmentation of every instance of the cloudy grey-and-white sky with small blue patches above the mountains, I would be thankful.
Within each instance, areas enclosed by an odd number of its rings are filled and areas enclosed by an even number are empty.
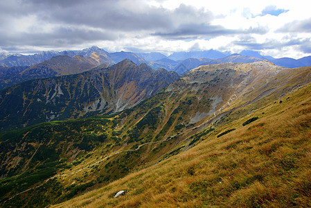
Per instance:
[[[0,53],[259,51],[311,55],[307,0],[0,0]]]

